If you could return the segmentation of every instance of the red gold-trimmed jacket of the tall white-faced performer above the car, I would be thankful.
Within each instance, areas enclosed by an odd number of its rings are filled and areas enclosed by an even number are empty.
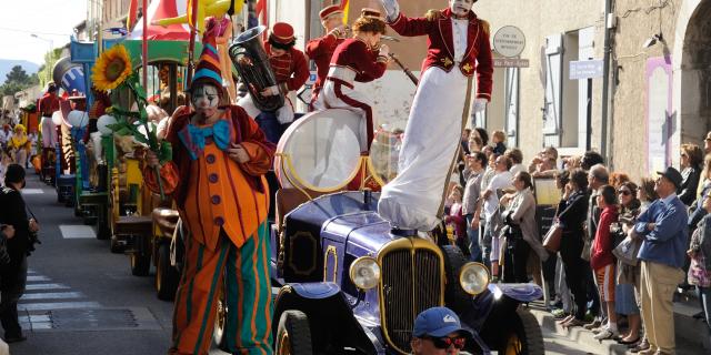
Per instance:
[[[402,13],[389,23],[400,36],[428,36],[427,58],[422,63],[422,72],[430,67],[438,67],[447,72],[454,68],[454,41],[452,39],[452,11],[440,10],[439,19],[408,18]],[[465,77],[477,72],[477,98],[491,100],[493,60],[489,43],[489,26],[479,20],[473,11],[469,11],[469,33],[464,58],[459,70]]]

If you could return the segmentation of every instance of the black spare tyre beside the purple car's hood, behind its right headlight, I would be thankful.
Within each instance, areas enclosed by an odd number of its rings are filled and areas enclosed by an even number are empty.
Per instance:
[[[467,258],[457,245],[443,245],[444,254],[444,272],[447,277],[447,286],[444,288],[444,304],[457,314],[463,313],[469,308],[472,296],[462,290],[459,283],[459,273]]]

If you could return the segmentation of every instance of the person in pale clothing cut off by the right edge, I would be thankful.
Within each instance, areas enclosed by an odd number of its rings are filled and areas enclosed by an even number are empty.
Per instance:
[[[695,285],[701,303],[702,318],[711,334],[711,196],[705,196],[702,206],[707,215],[691,235],[691,244],[687,255],[691,257],[691,266],[687,275],[689,284]]]

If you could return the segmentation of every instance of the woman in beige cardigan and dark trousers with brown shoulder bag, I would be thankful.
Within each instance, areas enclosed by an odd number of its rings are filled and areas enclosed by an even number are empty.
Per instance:
[[[541,260],[548,258],[548,252],[541,244],[538,224],[535,223],[535,197],[531,175],[524,171],[513,178],[515,193],[501,199],[508,204],[503,220],[509,232],[507,236],[507,260],[504,266],[504,282],[527,283],[529,281],[527,264],[531,251]],[[540,270],[539,270],[540,273]]]

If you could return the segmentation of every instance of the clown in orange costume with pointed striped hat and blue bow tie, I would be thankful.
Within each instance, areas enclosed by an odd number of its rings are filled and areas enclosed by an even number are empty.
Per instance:
[[[231,354],[271,354],[269,280],[269,191],[264,173],[274,145],[242,108],[229,105],[221,85],[214,38],[190,87],[194,112],[178,110],[166,140],[172,160],[160,168],[187,226],[186,262],[176,295],[170,354],[208,354],[216,304],[224,285],[226,346]],[[212,45],[208,45],[212,44]],[[156,153],[147,153],[143,175],[158,192]]]

